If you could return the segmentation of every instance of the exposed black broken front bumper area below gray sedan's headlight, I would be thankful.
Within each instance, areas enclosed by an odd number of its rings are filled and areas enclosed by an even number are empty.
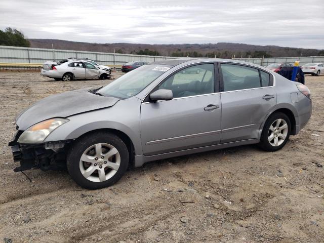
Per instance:
[[[66,168],[66,151],[71,140],[46,142],[43,144],[20,144],[17,142],[23,131],[18,130],[13,141],[9,142],[15,163],[19,166],[14,172],[32,168],[48,170],[63,170]]]

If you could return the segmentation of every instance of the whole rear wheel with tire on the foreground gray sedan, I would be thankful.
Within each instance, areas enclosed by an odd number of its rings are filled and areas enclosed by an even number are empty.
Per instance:
[[[273,113],[263,127],[259,146],[266,151],[277,151],[285,146],[290,132],[289,117],[282,112]]]

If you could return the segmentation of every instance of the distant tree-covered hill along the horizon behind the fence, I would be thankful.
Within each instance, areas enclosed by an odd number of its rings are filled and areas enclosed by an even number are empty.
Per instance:
[[[159,56],[189,56],[189,57],[298,57],[324,56],[324,50],[302,49],[278,46],[256,46],[237,43],[217,44],[130,44],[130,43],[83,43],[62,41],[60,39],[28,39],[30,47],[52,48],[61,50],[116,52],[125,54],[159,55]]]

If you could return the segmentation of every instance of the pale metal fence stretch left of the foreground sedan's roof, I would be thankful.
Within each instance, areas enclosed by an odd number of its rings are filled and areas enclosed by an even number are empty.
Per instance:
[[[45,61],[59,61],[69,57],[89,58],[102,65],[121,65],[132,61],[154,62],[174,58],[163,56],[0,46],[0,63],[43,64]]]

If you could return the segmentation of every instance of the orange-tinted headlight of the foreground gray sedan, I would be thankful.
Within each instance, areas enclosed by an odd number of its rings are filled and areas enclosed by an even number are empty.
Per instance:
[[[18,143],[42,143],[56,128],[69,121],[65,118],[52,118],[41,121],[21,134]]]

